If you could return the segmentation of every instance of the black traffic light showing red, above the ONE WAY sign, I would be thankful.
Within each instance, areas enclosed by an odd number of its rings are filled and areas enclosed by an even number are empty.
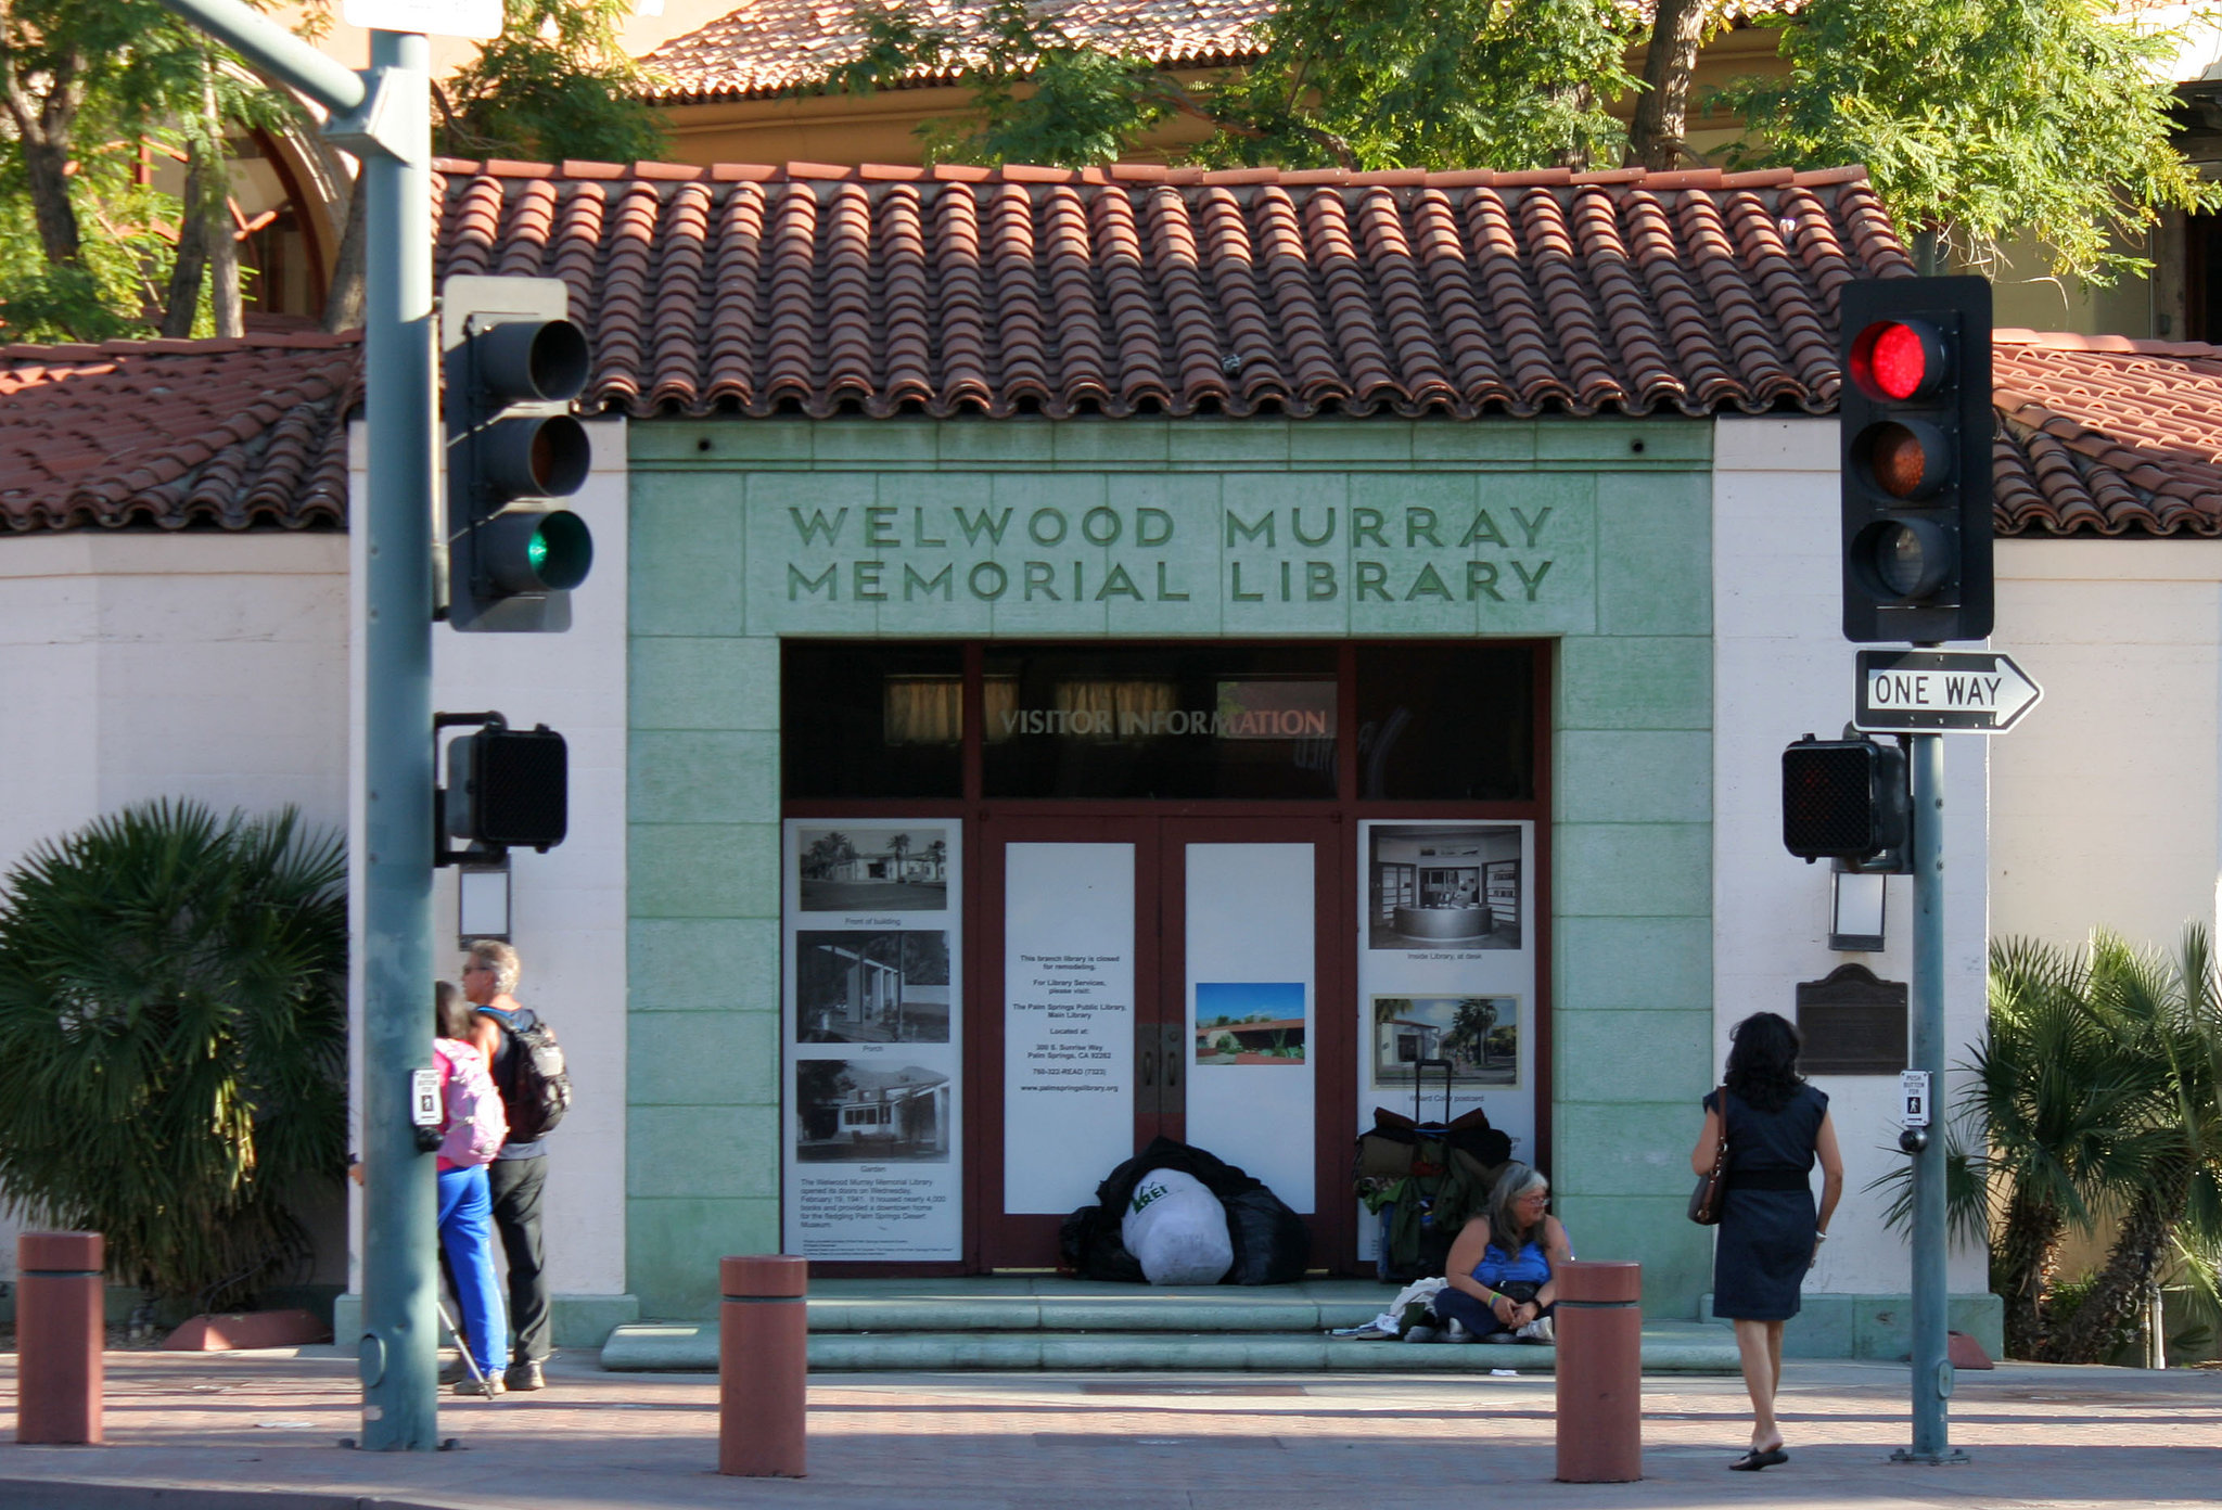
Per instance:
[[[1991,633],[1991,284],[1869,278],[1838,293],[1844,637]]]

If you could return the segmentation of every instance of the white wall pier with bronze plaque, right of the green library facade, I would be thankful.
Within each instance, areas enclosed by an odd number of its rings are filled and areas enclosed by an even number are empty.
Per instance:
[[[1846,962],[1911,982],[1911,877],[1889,877],[1882,955],[1829,948],[1829,866],[1782,848],[1782,746],[1840,735],[1853,711],[1842,635],[1835,420],[1722,420],[1713,442],[1713,1030],[1755,1010],[1795,1019],[1798,982]],[[2006,615],[2000,615],[2006,622]],[[2042,675],[2042,673],[2040,673]],[[1946,1061],[1984,1017],[1984,739],[1944,742]],[[1895,1075],[1815,1075],[1844,1150],[1844,1204],[1806,1292],[1904,1295],[1904,1237],[1864,1195],[1900,1168]],[[1691,1141],[1698,1113],[1691,1108]],[[1989,1286],[1980,1248],[1955,1248],[1955,1295]]]

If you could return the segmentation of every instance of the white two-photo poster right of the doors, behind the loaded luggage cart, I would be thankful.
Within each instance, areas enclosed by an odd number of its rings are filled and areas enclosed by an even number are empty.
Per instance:
[[[1358,824],[1358,1130],[1411,1115],[1420,1059],[1451,1059],[1451,1117],[1482,1106],[1535,1155],[1535,824]],[[1429,1068],[1420,1115],[1442,1117]],[[1549,1172],[1549,1170],[1544,1170]],[[1360,1257],[1380,1224],[1360,1212]]]

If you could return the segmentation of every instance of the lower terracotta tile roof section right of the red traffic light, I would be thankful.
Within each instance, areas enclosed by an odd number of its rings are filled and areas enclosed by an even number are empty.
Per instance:
[[[2000,535],[2222,535],[2222,346],[1993,342]]]

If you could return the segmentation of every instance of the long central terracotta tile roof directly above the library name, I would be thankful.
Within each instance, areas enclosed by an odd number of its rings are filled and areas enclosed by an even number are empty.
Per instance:
[[[1911,271],[1860,169],[438,171],[442,273],[564,278],[633,415],[1822,413]]]

